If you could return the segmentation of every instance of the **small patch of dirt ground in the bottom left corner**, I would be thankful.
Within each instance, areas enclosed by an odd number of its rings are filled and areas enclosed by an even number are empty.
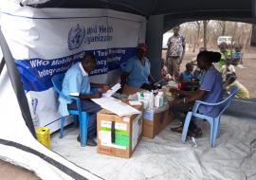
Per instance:
[[[39,180],[33,172],[0,160],[1,180]]]

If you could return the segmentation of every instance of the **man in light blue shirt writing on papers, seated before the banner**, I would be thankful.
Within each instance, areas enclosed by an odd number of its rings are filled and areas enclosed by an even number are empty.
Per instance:
[[[82,99],[82,111],[86,111],[90,118],[88,119],[88,139],[87,145],[96,146],[97,143],[93,137],[96,136],[97,132],[97,121],[96,115],[101,110],[101,107],[91,101],[90,99],[101,98],[101,92],[105,92],[109,89],[106,84],[90,83],[88,74],[96,67],[96,58],[92,54],[84,56],[81,62],[74,63],[65,73],[63,81],[63,93],[66,96],[71,94],[78,94],[79,98]],[[91,87],[101,88],[101,92],[91,93]],[[60,106],[59,112],[63,117],[68,116],[68,110],[77,109],[76,102],[72,99],[59,98]],[[80,135],[78,136],[80,141]]]

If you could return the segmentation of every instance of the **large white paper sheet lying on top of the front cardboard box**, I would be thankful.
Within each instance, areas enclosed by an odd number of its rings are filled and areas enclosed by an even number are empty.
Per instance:
[[[129,106],[126,103],[121,102],[119,99],[101,98],[92,99],[95,103],[99,104],[102,108],[117,114],[119,117],[124,117],[128,115],[140,114],[136,108]]]

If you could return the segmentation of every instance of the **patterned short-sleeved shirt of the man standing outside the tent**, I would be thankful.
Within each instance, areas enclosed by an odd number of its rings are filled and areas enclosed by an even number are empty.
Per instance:
[[[172,36],[167,42],[167,56],[182,56],[183,46],[185,46],[185,38],[182,35]]]

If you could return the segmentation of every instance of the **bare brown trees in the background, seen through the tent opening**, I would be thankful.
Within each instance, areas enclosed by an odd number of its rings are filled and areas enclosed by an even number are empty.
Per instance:
[[[203,27],[200,24],[203,24]],[[186,37],[186,42],[192,47],[192,51],[199,46],[217,47],[217,39],[223,34],[232,36],[237,45],[243,45],[245,48],[250,44],[256,46],[255,26],[252,29],[251,24],[230,21],[226,21],[225,30],[223,26],[223,22],[215,20],[203,21],[203,23],[189,22],[181,25],[181,34]]]

